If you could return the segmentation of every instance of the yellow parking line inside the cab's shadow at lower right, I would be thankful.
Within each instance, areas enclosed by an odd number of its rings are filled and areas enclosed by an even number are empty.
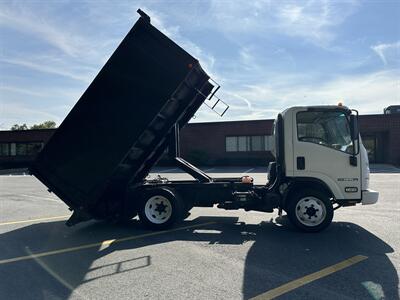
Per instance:
[[[337,271],[340,271],[340,270],[343,270],[343,269],[345,269],[347,267],[350,267],[350,266],[352,266],[352,265],[354,265],[356,263],[359,263],[359,262],[361,262],[361,261],[363,261],[363,260],[365,260],[367,258],[368,257],[364,256],[364,255],[353,256],[353,257],[351,257],[349,259],[346,259],[346,260],[344,260],[344,261],[342,261],[340,263],[337,263],[335,265],[332,265],[330,267],[322,269],[322,270],[320,270],[318,272],[309,274],[309,275],[301,277],[299,279],[290,281],[290,282],[288,282],[288,283],[286,283],[284,285],[281,285],[281,286],[279,286],[279,287],[277,287],[275,289],[269,290],[268,292],[266,292],[264,294],[261,294],[261,295],[258,295],[256,297],[252,298],[252,300],[274,299],[274,298],[279,297],[279,296],[281,296],[283,294],[286,294],[286,293],[288,293],[288,292],[290,292],[290,291],[292,291],[294,289],[297,289],[297,288],[299,288],[299,287],[301,287],[303,285],[306,285],[306,284],[308,284],[310,282],[313,282],[313,281],[318,280],[318,279],[320,279],[322,277],[328,276],[328,275],[333,274],[333,273],[335,273]]]

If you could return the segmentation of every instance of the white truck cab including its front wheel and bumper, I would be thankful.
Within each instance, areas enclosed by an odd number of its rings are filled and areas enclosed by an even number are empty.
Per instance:
[[[357,111],[341,105],[291,107],[278,115],[274,135],[273,177],[280,177],[284,209],[297,226],[313,231],[329,224],[338,207],[378,201],[378,192],[369,189]]]

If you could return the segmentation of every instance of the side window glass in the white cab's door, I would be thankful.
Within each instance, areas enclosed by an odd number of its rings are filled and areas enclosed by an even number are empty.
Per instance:
[[[297,114],[297,138],[346,153],[353,152],[347,115],[341,111],[305,111]]]

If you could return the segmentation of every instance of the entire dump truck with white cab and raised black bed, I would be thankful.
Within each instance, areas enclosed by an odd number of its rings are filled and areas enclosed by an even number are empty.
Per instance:
[[[180,157],[179,132],[205,103],[225,105],[199,61],[140,18],[30,168],[65,202],[68,226],[95,220],[140,221],[164,229],[193,207],[285,211],[316,232],[335,209],[372,204],[358,113],[345,106],[292,107],[274,123],[268,181],[212,178]],[[224,106],[223,115],[228,106]],[[149,179],[168,150],[192,180]]]

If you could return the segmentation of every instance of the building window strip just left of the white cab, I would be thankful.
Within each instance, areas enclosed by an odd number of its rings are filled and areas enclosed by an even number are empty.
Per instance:
[[[226,152],[271,151],[273,137],[269,135],[227,136]]]

